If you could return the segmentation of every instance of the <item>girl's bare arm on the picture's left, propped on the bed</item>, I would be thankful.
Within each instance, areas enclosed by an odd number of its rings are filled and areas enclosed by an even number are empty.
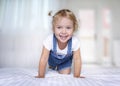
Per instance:
[[[49,57],[49,50],[47,50],[45,47],[43,47],[41,58],[39,61],[39,70],[38,70],[37,78],[45,77],[45,71],[46,71],[46,65],[48,62],[48,57]]]

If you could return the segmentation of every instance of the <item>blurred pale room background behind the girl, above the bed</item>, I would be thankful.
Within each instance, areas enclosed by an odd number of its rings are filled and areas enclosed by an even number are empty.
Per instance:
[[[120,67],[120,0],[0,0],[0,67],[38,67],[52,15],[72,10],[83,64]]]

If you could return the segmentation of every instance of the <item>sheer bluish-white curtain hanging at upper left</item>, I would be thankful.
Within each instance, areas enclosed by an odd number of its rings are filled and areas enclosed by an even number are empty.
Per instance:
[[[37,32],[48,28],[49,0],[0,0],[2,33]]]

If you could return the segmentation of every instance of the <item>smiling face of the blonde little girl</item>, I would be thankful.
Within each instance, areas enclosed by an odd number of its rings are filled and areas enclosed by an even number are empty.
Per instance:
[[[55,22],[53,31],[58,42],[67,43],[74,32],[73,21],[67,17],[61,17]]]

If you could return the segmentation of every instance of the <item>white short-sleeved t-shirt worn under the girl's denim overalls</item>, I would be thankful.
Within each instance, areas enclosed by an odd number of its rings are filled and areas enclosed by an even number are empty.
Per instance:
[[[48,49],[49,51],[53,49],[53,34],[49,35],[44,41],[43,41],[43,45],[46,49]],[[73,36],[72,37],[72,51],[76,51],[78,50],[78,48],[80,47],[80,42],[79,40]],[[66,48],[64,49],[59,49],[58,44],[57,44],[57,53],[59,54],[67,54],[67,50],[68,50],[68,45],[66,46]]]

